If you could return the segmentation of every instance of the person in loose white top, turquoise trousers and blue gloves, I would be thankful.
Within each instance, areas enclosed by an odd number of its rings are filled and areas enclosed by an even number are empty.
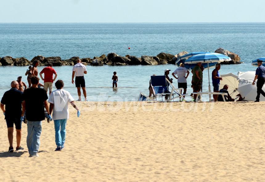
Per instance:
[[[80,111],[75,105],[73,97],[66,90],[63,90],[63,80],[55,83],[57,90],[51,92],[48,102],[50,103],[49,112],[52,112],[55,129],[55,143],[57,148],[55,151],[61,151],[64,148],[66,135],[66,121],[69,118],[68,104],[70,103],[77,110],[77,117]]]

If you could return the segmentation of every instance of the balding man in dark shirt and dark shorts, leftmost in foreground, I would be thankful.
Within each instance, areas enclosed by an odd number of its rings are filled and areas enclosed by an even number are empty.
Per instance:
[[[11,82],[11,89],[6,91],[1,100],[1,109],[5,115],[6,125],[7,125],[7,133],[8,133],[8,141],[9,141],[9,149],[8,152],[13,152],[13,131],[14,124],[17,131],[17,147],[16,150],[24,150],[20,146],[21,141],[21,103],[22,103],[22,92],[18,90],[19,84],[17,81]],[[6,105],[6,108],[4,108]]]

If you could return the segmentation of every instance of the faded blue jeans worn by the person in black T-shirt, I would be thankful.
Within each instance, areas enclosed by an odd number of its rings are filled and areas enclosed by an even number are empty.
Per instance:
[[[35,155],[39,151],[39,137],[41,134],[41,121],[27,121],[28,136],[27,147],[30,155]]]

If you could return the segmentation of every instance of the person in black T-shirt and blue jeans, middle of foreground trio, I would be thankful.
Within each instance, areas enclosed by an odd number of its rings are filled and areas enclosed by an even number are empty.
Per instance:
[[[47,104],[47,93],[43,88],[38,88],[39,78],[33,76],[31,78],[31,88],[27,89],[23,93],[22,102],[22,114],[26,110],[27,119],[27,147],[31,157],[38,157],[37,152],[39,151],[39,138],[41,134],[41,122],[45,119],[44,107],[48,112],[48,118],[51,120],[49,113],[49,107]]]

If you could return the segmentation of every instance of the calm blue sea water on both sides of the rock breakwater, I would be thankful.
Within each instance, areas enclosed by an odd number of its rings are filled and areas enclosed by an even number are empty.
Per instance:
[[[94,57],[115,52],[119,55],[176,54],[181,51],[210,51],[223,47],[239,54],[244,64],[223,65],[221,74],[255,70],[251,61],[265,56],[265,23],[0,23],[0,57],[36,55]],[[131,47],[129,50],[128,47]],[[43,67],[39,67],[39,71]],[[150,75],[163,74],[175,65],[158,66],[87,66],[86,86],[91,101],[136,100],[140,92],[148,94]],[[0,67],[0,97],[9,84],[27,67]],[[71,66],[55,67],[58,79],[77,99],[71,84]],[[112,73],[119,76],[118,89],[112,89]],[[212,71],[212,69],[210,70]],[[190,77],[191,78],[191,77]],[[190,78],[188,83],[190,83]],[[22,78],[27,83],[24,76]],[[177,80],[174,80],[177,85]],[[207,90],[207,70],[204,85]],[[188,92],[191,92],[190,86]],[[190,99],[190,98],[187,98]],[[207,99],[207,97],[206,97]]]

